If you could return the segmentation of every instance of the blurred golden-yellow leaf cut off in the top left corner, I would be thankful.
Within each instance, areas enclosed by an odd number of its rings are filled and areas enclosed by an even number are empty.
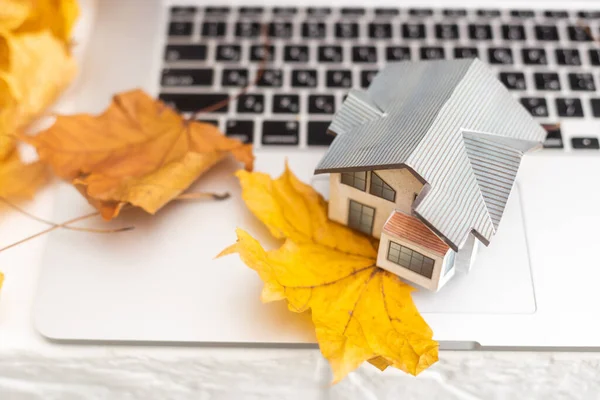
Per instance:
[[[18,33],[50,30],[68,44],[79,16],[77,0],[0,0],[0,29]]]

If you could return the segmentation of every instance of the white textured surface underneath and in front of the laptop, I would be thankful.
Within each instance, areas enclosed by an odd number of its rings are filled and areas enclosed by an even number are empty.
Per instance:
[[[48,218],[52,193],[43,191],[26,207]],[[43,228],[0,209],[0,246]],[[443,351],[441,360],[417,378],[364,365],[331,386],[329,367],[317,349],[52,343],[31,322],[44,242],[38,238],[0,253],[6,274],[0,296],[1,400],[600,396],[598,353]]]

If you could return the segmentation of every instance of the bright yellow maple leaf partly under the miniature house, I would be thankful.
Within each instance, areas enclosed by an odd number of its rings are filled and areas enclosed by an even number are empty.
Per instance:
[[[264,302],[285,299],[311,310],[317,340],[334,382],[362,362],[416,375],[438,359],[438,343],[415,307],[414,290],[375,266],[374,241],[327,219],[327,203],[286,167],[281,177],[239,171],[242,196],[277,238],[266,251],[241,229],[219,256],[239,253],[264,281]]]

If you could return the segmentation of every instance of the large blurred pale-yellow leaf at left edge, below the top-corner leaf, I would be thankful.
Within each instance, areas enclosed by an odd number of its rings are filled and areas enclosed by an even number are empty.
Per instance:
[[[75,61],[48,31],[0,31],[0,160],[19,130],[38,117],[70,83]]]

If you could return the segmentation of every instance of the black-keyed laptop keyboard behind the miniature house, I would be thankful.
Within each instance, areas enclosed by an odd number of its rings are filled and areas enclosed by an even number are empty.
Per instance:
[[[386,62],[479,57],[548,130],[545,147],[598,150],[600,11],[172,7],[160,98],[257,148],[326,146],[350,88]],[[261,34],[267,27],[268,52]]]

